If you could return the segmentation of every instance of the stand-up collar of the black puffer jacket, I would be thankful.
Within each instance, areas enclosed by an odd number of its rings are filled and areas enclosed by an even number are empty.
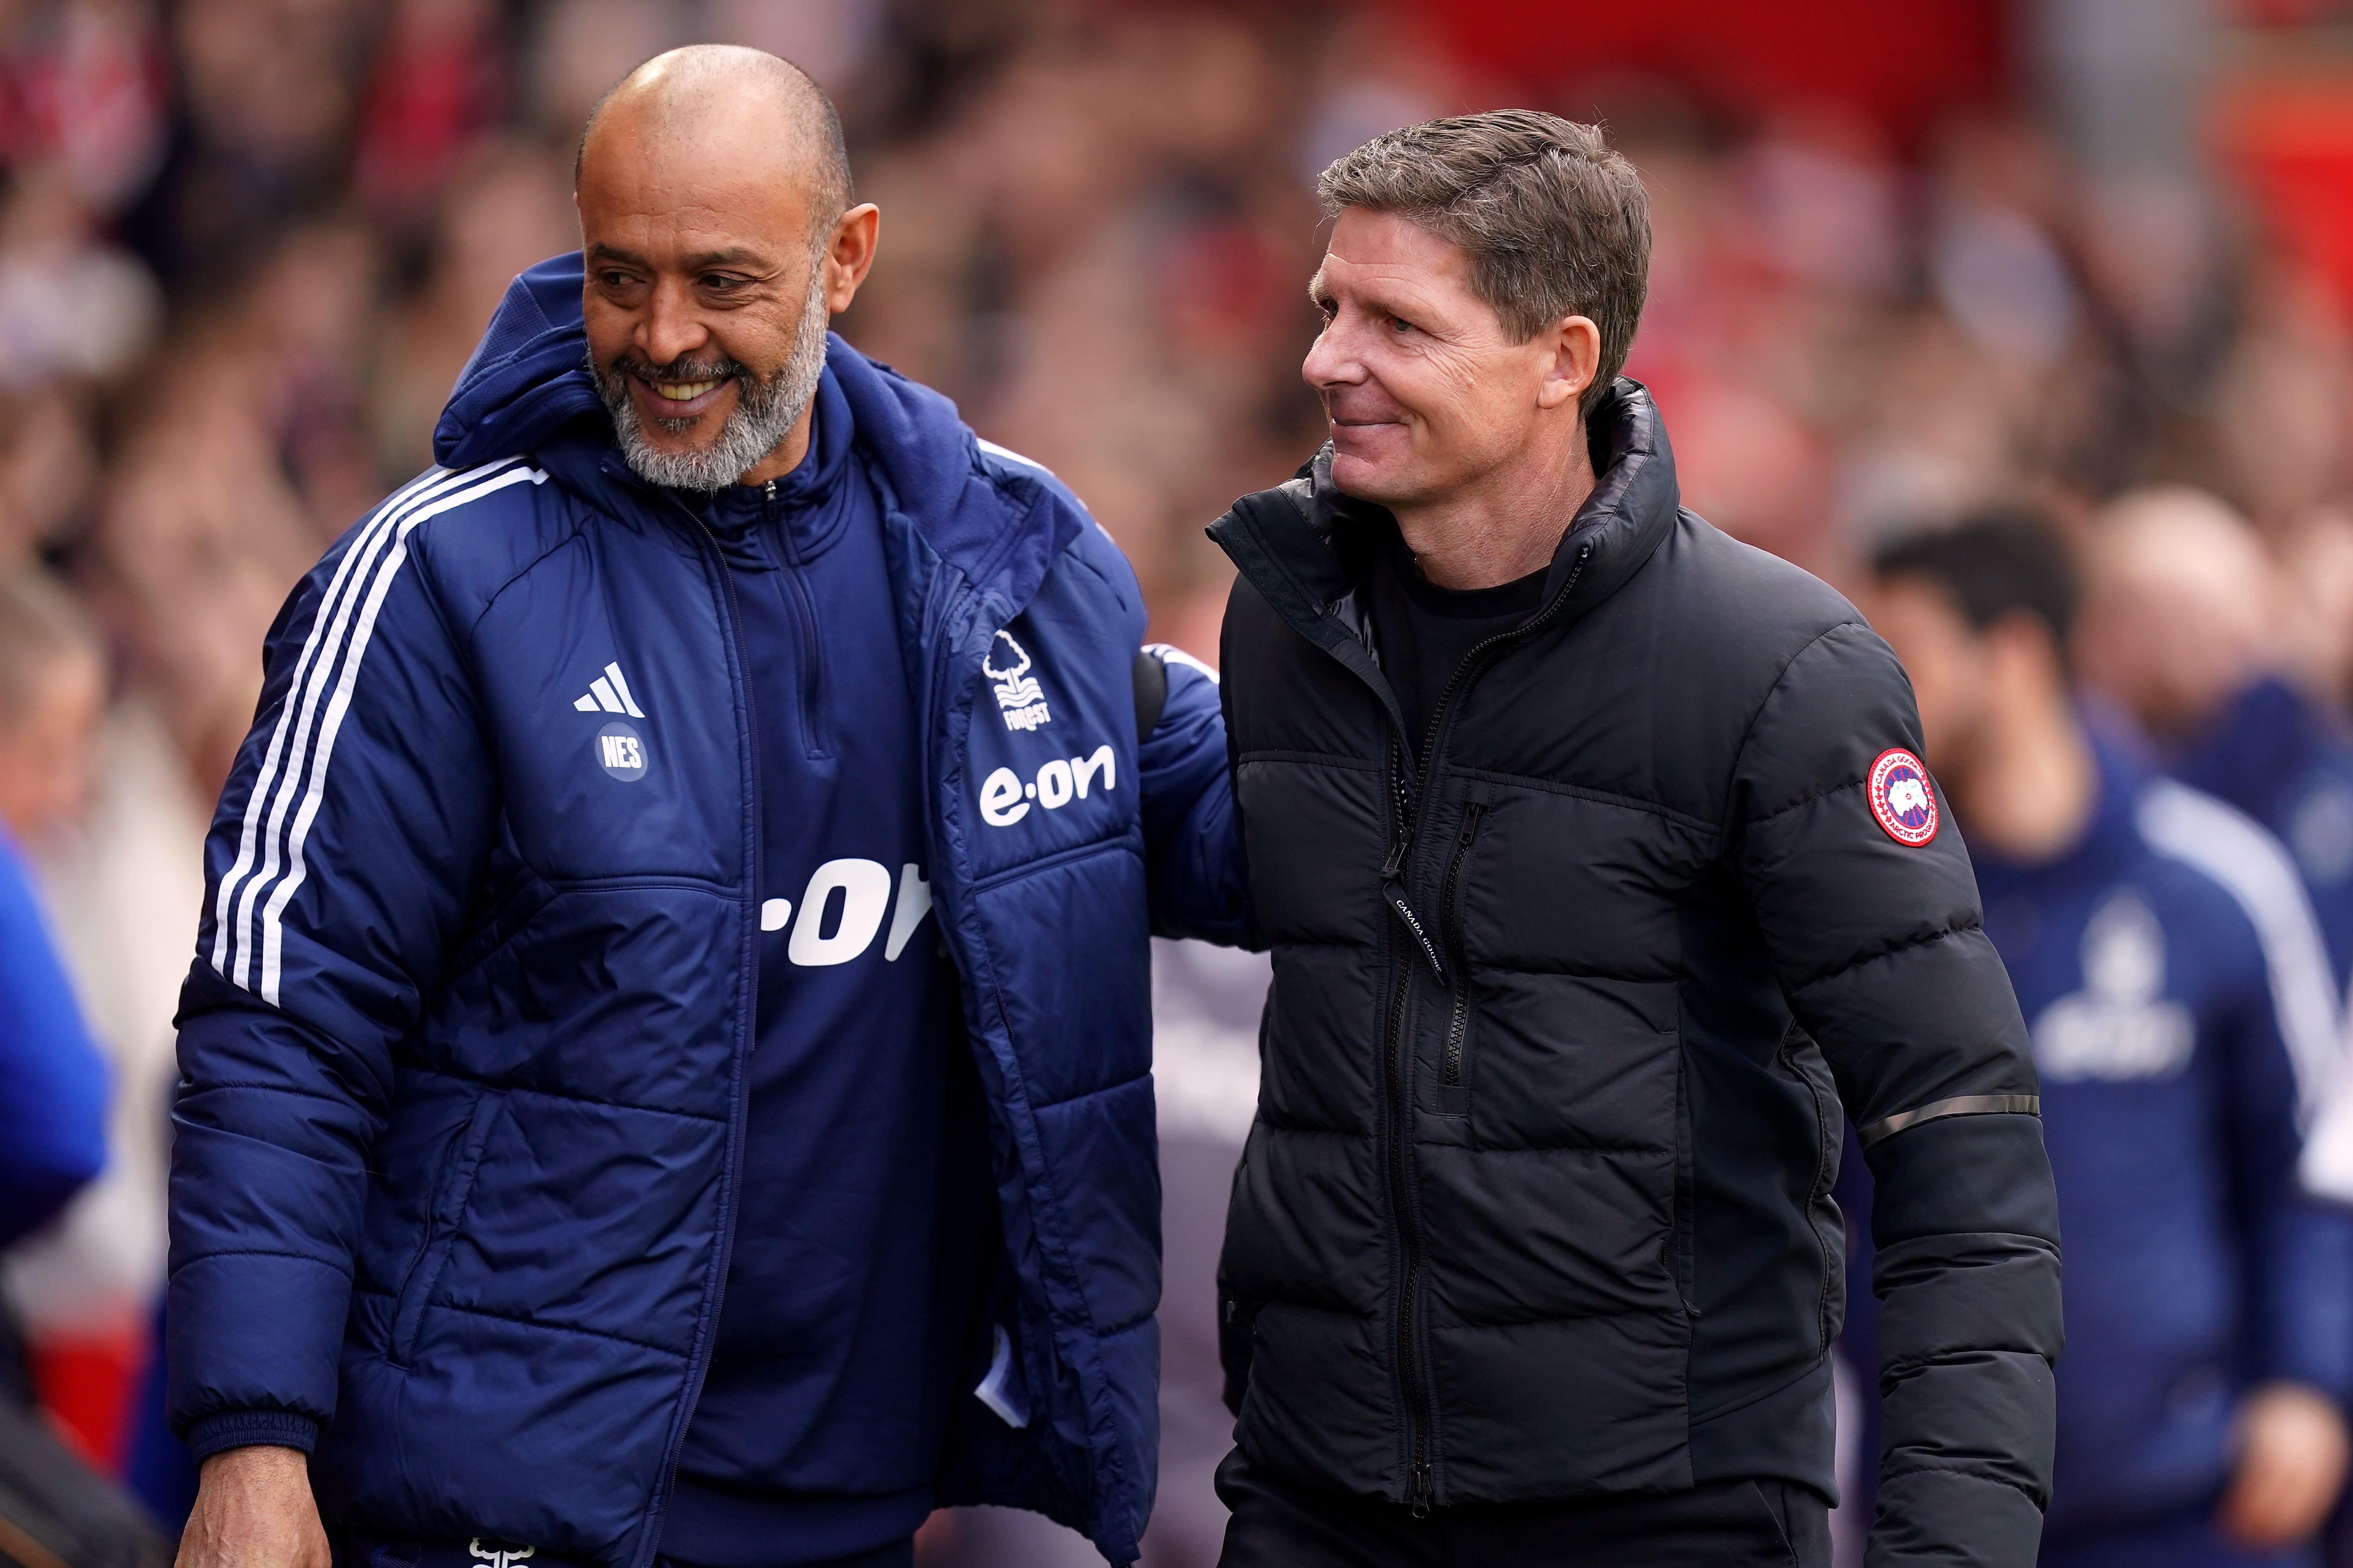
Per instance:
[[[1551,602],[1579,555],[1574,604],[1584,614],[1617,592],[1666,538],[1682,491],[1675,454],[1649,390],[1619,376],[1586,416],[1593,454],[1593,494],[1562,531],[1544,597]],[[1388,510],[1339,491],[1332,482],[1332,447],[1308,468],[1271,491],[1242,496],[1209,527],[1235,567],[1294,625],[1329,618],[1369,567],[1374,529],[1391,529]],[[1591,548],[1591,550],[1588,550]]]

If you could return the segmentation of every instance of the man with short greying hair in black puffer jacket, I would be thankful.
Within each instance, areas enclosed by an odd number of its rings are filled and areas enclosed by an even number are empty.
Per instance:
[[[2059,1229],[1911,686],[1680,510],[1600,134],[1391,132],[1212,529],[1275,954],[1221,1267],[1226,1568],[1828,1563],[1840,1117],[1878,1178],[1871,1561],[2035,1559]]]

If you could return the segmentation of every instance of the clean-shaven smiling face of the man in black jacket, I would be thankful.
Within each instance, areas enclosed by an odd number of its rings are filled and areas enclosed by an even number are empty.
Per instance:
[[[1325,327],[1299,374],[1322,397],[1332,480],[1391,508],[1442,503],[1577,418],[1600,331],[1574,315],[1527,341],[1471,289],[1471,254],[1393,212],[1348,207],[1308,284]]]

